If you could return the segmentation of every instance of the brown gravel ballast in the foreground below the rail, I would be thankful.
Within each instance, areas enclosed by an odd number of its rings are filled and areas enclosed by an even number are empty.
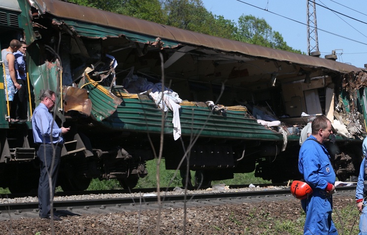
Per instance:
[[[354,198],[350,196],[334,198],[335,208],[341,209],[350,204],[354,204]],[[263,234],[265,231],[272,231],[274,221],[296,221],[301,217],[301,210],[300,201],[294,198],[282,201],[200,206],[185,210],[167,208],[162,209],[160,213],[159,234]],[[80,216],[62,216],[61,218],[63,220],[55,221],[53,226],[50,220],[39,218],[2,221],[0,234],[153,235],[156,234],[158,211],[83,214]],[[300,232],[302,232],[302,228],[300,228]],[[277,234],[276,231],[272,233],[272,235]]]

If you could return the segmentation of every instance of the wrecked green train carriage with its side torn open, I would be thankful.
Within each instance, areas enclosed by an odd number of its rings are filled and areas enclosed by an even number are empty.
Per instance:
[[[1,49],[14,38],[29,45],[29,121],[9,122],[0,104],[0,186],[11,192],[37,187],[30,120],[46,89],[58,93],[57,120],[71,126],[64,190],[93,178],[132,188],[160,150],[166,169],[200,172],[202,185],[253,171],[274,183],[298,179],[302,114],[333,122],[327,145],[339,180],[358,174],[363,69],[59,0],[0,0],[0,32]]]

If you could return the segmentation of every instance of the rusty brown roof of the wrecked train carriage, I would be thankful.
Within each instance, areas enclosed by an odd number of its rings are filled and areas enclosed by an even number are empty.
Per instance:
[[[163,41],[172,40],[178,43],[204,46],[226,52],[239,52],[244,55],[255,57],[270,58],[308,66],[324,67],[343,73],[360,71],[359,68],[353,65],[344,64],[333,60],[218,38],[60,0],[29,0],[29,2],[31,5],[35,6],[41,14],[47,12],[56,17],[79,20],[101,26],[120,28],[139,34],[152,35],[154,37],[160,37]]]

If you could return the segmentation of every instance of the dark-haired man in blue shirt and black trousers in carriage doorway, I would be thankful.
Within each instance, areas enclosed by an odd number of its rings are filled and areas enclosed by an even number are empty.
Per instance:
[[[15,116],[19,122],[25,122],[28,119],[27,115],[27,71],[26,71],[26,60],[25,54],[27,51],[27,44],[24,41],[20,41],[21,47],[17,52],[14,52],[15,56],[15,69],[17,82],[21,85],[21,88],[14,95],[14,113],[11,116]]]

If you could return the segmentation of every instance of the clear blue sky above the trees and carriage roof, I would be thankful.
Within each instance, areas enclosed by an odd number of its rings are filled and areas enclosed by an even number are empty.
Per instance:
[[[202,2],[208,11],[222,15],[235,23],[243,14],[263,18],[274,31],[283,36],[288,46],[307,53],[307,0],[202,0]],[[367,1],[315,0],[315,2],[320,57],[324,58],[335,50],[336,61],[364,68],[367,64],[365,10]],[[316,43],[311,41],[312,45]]]

